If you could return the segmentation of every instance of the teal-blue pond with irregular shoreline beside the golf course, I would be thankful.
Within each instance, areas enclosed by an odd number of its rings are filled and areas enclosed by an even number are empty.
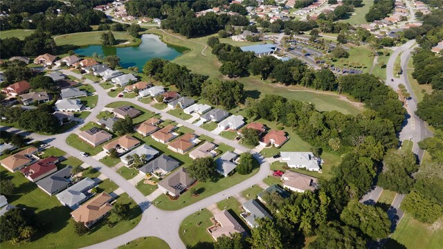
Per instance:
[[[161,57],[163,59],[172,60],[181,55],[187,48],[180,46],[171,46],[161,42],[156,35],[142,35],[141,44],[126,48],[116,48],[101,45],[90,45],[75,50],[78,55],[92,56],[93,53],[102,55],[117,55],[120,57],[120,65],[124,68],[129,66],[137,66],[142,71],[145,63],[152,58]]]

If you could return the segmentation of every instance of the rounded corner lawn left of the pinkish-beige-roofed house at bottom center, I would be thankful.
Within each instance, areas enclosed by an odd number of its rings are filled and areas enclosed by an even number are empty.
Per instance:
[[[181,241],[185,243],[187,248],[213,248],[213,239],[206,231],[206,228],[213,225],[210,221],[212,216],[213,213],[205,208],[201,212],[195,212],[183,219],[180,224],[179,234]]]

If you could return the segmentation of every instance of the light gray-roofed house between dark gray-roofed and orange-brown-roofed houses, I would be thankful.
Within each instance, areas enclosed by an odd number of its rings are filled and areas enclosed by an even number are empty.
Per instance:
[[[66,190],[63,190],[56,196],[62,205],[71,208],[71,210],[75,210],[80,206],[80,204],[91,198],[92,194],[89,193],[89,190],[96,185],[96,181],[86,177],[82,179],[82,181],[79,181],[71,187],[68,187]]]

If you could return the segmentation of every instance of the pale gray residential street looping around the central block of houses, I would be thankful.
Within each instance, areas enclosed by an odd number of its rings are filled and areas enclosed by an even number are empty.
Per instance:
[[[78,79],[82,77],[81,75],[78,75],[71,71],[62,71],[62,72],[65,73],[66,75],[72,75],[73,77],[77,77]],[[96,92],[100,98],[98,98],[98,103],[96,107],[92,109],[91,114],[88,116],[88,118],[84,120],[84,123],[92,121],[98,115],[98,113],[100,113],[100,111],[103,108],[105,108],[106,104],[116,101],[115,98],[109,97],[105,89],[102,89],[100,85],[93,84],[91,82],[89,83],[91,84],[91,86],[93,86],[94,89],[96,89]],[[226,138],[217,136],[211,133],[210,131],[206,131],[205,129],[196,127],[194,124],[190,124],[189,122],[186,122],[175,116],[172,116],[169,113],[165,113],[164,111],[159,111],[158,109],[154,109],[154,107],[151,107],[149,104],[143,104],[138,100],[127,99],[127,98],[120,98],[119,101],[131,102],[150,111],[159,113],[164,119],[174,120],[179,124],[183,124],[186,127],[189,127],[190,129],[194,129],[195,133],[199,135],[204,134],[206,136],[215,138],[215,142],[223,142],[227,145],[230,145],[231,147],[234,147],[238,151],[249,150],[248,148],[239,145],[237,142],[233,140],[227,140]],[[80,151],[69,146],[66,143],[66,138],[69,136],[70,133],[78,131],[79,128],[80,125],[78,125],[74,129],[71,129],[69,133],[62,133],[55,136],[44,136],[35,133],[29,134],[29,136],[36,140],[41,140],[43,142],[46,142],[49,145],[53,145],[54,147],[61,148],[64,151],[66,151],[66,153],[68,154],[71,154],[73,156],[78,156],[80,155]],[[262,180],[269,175],[270,165],[268,159],[263,158],[260,154],[257,153],[253,155],[260,163],[260,170],[257,174],[251,176],[251,178],[248,178],[246,181],[243,181],[242,183],[239,183],[233,187],[228,188],[227,190],[214,194],[213,196],[209,196],[206,199],[203,199],[197,203],[194,203],[192,205],[187,206],[186,208],[182,208],[181,210],[177,211],[164,211],[160,210],[159,208],[156,208],[154,205],[151,205],[150,201],[148,201],[148,198],[146,196],[143,196],[143,194],[141,194],[141,192],[139,192],[136,189],[136,187],[134,187],[134,185],[132,185],[131,183],[129,183],[129,181],[126,181],[125,178],[117,174],[114,171],[114,169],[111,169],[106,165],[103,165],[102,163],[100,163],[100,161],[94,159],[93,157],[82,158],[82,160],[84,160],[84,163],[87,163],[91,165],[91,167],[98,169],[102,174],[105,174],[105,176],[107,176],[111,181],[116,183],[121,189],[123,189],[127,194],[129,194],[129,196],[131,196],[131,198],[134,199],[134,201],[141,207],[141,210],[143,211],[140,223],[138,223],[138,225],[136,225],[136,227],[133,230],[130,230],[129,232],[126,232],[125,234],[122,234],[118,237],[114,237],[113,239],[103,241],[102,243],[98,243],[93,246],[89,246],[87,248],[116,248],[134,239],[140,237],[147,237],[147,236],[159,237],[160,239],[166,241],[169,244],[170,248],[173,249],[186,248],[179,237],[179,226],[181,221],[183,221],[183,219],[185,219],[190,214],[193,214],[194,212],[204,209],[209,205],[222,201],[223,199],[226,199],[229,196],[235,196],[236,194],[242,192],[242,190],[251,187],[252,185],[261,183]]]

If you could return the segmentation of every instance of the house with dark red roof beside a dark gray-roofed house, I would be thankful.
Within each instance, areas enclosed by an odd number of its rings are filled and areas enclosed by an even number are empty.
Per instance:
[[[35,183],[45,176],[56,172],[56,163],[58,163],[58,158],[56,156],[50,156],[48,158],[39,160],[37,163],[33,163],[32,165],[24,167],[24,169],[21,169],[20,172],[24,174],[24,176],[28,178],[29,181]]]

